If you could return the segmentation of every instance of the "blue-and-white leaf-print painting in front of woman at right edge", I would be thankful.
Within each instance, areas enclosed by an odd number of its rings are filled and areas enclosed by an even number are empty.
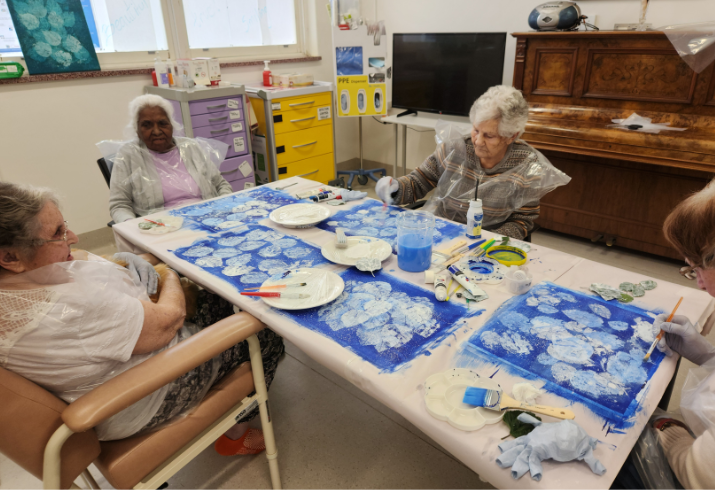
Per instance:
[[[656,350],[643,362],[657,313],[544,282],[504,303],[456,364],[467,367],[475,357],[496,361],[623,427],[632,423],[638,395],[664,357]]]

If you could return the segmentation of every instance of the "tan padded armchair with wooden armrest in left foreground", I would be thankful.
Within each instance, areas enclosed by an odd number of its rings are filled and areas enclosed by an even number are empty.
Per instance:
[[[278,451],[268,412],[261,349],[264,325],[238,313],[205,328],[67,404],[31,381],[0,368],[0,452],[44,482],[70,488],[82,475],[99,488],[94,463],[116,488],[158,488],[258,405],[273,488],[280,488]],[[214,385],[189,415],[150,432],[100,442],[94,427],[158,388],[248,340],[250,363]],[[248,396],[252,391],[256,394]]]

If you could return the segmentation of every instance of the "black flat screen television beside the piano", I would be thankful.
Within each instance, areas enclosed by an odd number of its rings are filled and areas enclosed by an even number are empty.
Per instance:
[[[394,34],[392,106],[469,115],[474,101],[502,83],[506,32]]]

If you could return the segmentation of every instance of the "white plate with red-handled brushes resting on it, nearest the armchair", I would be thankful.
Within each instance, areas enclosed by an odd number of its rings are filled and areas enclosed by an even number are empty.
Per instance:
[[[281,310],[305,310],[307,308],[315,308],[330,303],[335,298],[340,296],[340,293],[345,289],[343,279],[334,272],[323,269],[295,269],[290,271],[290,274],[283,279],[271,280],[268,279],[261,287],[275,286],[277,284],[296,284],[306,283],[305,286],[299,288],[285,289],[270,289],[269,291],[281,293],[297,293],[309,294],[309,298],[305,299],[288,299],[288,298],[261,298],[269,306],[279,308]]]

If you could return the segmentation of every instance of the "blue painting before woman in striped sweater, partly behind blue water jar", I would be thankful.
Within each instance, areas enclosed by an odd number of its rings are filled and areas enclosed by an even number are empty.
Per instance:
[[[330,219],[318,224],[318,228],[333,233],[336,228],[344,228],[346,235],[377,237],[392,245],[392,251],[396,254],[397,217],[405,211],[407,210],[397,206],[387,206],[383,209],[380,201],[368,199],[359,206],[335,213]],[[463,236],[466,231],[467,227],[462,224],[435,217],[433,243],[437,245]]]

